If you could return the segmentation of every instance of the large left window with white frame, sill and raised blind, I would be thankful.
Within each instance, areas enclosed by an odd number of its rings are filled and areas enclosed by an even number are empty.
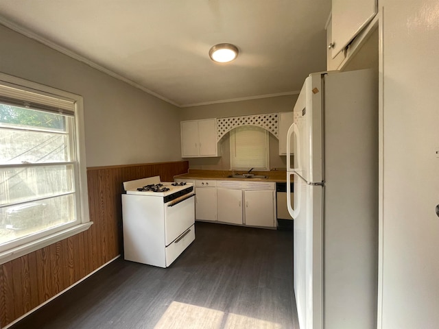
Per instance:
[[[0,74],[0,263],[86,230],[82,97]]]

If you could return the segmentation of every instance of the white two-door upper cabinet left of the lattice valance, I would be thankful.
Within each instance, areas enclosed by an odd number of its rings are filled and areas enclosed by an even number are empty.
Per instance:
[[[180,124],[182,158],[218,156],[216,119],[182,121]]]

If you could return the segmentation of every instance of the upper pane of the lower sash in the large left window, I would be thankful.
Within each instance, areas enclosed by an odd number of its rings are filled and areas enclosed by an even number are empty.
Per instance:
[[[73,164],[0,169],[0,206],[73,191]]]

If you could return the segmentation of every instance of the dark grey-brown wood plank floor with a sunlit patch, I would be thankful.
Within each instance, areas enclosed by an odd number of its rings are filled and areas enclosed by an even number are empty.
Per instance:
[[[195,236],[167,269],[119,258],[10,328],[298,328],[292,232],[197,222]]]

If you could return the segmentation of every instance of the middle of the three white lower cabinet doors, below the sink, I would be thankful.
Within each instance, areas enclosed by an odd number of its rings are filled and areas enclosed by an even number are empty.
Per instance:
[[[242,225],[242,191],[217,188],[218,221]]]

